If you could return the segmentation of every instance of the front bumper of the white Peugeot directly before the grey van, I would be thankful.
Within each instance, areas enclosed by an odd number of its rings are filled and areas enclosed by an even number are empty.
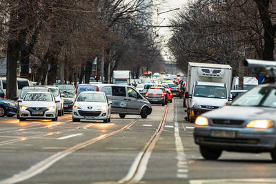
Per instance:
[[[73,109],[73,119],[104,120],[108,119],[108,110],[77,110]]]

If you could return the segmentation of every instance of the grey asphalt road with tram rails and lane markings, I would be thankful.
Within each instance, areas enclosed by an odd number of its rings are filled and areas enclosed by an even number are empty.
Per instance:
[[[110,123],[1,118],[0,183],[276,183],[266,153],[204,160],[182,102]]]

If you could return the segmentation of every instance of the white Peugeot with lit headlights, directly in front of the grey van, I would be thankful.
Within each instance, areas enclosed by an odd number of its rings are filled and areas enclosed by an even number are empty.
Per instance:
[[[110,122],[111,104],[104,92],[81,92],[73,107],[72,121],[88,119]]]

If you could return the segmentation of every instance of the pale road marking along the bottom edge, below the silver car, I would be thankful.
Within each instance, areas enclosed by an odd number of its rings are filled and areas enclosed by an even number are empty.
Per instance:
[[[204,183],[275,183],[276,178],[225,178],[225,179],[206,179],[190,180],[190,184]]]

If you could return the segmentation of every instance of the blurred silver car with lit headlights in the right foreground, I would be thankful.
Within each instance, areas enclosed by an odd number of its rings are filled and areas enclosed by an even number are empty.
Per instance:
[[[270,152],[276,162],[276,85],[259,85],[232,104],[201,114],[195,124],[195,143],[205,159],[218,159],[226,150]]]

